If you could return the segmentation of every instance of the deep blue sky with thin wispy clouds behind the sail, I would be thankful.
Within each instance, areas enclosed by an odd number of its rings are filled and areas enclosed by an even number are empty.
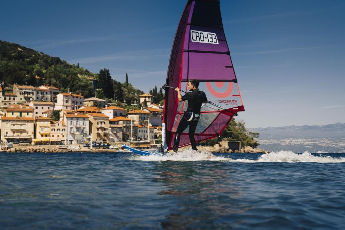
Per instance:
[[[3,1],[0,40],[148,92],[165,83],[186,0]],[[343,0],[221,0],[246,126],[345,122]]]

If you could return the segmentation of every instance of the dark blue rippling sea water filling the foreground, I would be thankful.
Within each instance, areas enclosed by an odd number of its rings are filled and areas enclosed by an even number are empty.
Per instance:
[[[0,229],[344,229],[345,154],[1,153]]]

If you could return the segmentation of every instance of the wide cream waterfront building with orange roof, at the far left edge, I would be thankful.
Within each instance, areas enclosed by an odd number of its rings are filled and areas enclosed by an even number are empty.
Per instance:
[[[32,117],[1,117],[1,140],[8,143],[31,143],[33,123]]]

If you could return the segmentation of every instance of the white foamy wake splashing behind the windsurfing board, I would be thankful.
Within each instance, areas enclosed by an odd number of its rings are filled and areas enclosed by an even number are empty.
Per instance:
[[[240,156],[241,153],[239,153]],[[242,153],[243,154],[243,153]],[[342,163],[345,158],[334,158],[330,156],[313,156],[309,152],[302,154],[294,153],[292,151],[278,151],[262,154],[257,160],[253,159],[231,159],[231,154],[227,156],[215,156],[211,152],[194,150],[185,150],[177,153],[167,153],[162,155],[155,153],[150,156],[134,156],[131,160],[139,161],[228,161],[228,162],[243,162],[243,163],[260,163],[260,162],[317,162],[317,163]]]

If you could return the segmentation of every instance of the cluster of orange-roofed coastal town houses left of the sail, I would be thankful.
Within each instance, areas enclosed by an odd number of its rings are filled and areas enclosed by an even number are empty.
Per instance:
[[[95,81],[90,79],[94,91]],[[161,138],[163,107],[153,103],[150,93],[138,95],[136,106],[141,109],[127,111],[100,98],[63,93],[49,84],[12,87],[9,93],[0,86],[2,149],[8,143],[79,146],[90,142],[108,146],[130,142],[145,149],[158,146]],[[57,112],[59,119],[53,119]]]

